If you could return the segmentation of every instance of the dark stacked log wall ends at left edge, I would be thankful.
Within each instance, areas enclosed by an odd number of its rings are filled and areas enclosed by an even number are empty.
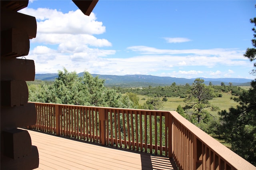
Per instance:
[[[36,37],[36,18],[17,12],[28,0],[1,1],[1,169],[34,169],[38,149],[32,146],[26,127],[36,123],[36,108],[28,104],[26,81],[34,81],[29,39]]]

